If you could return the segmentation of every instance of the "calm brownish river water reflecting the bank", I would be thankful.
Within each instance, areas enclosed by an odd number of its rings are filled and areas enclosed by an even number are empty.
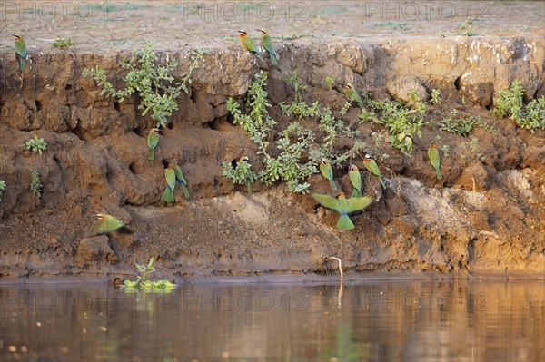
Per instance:
[[[542,361],[542,281],[0,285],[1,361]]]

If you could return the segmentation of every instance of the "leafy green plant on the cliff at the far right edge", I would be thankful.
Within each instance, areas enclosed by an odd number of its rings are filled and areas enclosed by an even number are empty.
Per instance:
[[[509,90],[500,91],[496,108],[491,112],[496,118],[509,117],[519,127],[545,131],[545,96],[534,99],[524,106],[522,96],[525,93],[522,83],[514,81]]]

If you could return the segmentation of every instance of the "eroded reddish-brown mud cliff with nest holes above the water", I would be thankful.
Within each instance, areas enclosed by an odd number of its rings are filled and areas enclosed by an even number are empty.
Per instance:
[[[376,43],[311,38],[279,42],[277,50],[278,67],[265,69],[274,105],[292,99],[282,76],[294,70],[308,101],[337,110],[344,98],[340,88],[326,89],[326,76],[377,99],[408,101],[411,89],[427,98],[437,88],[443,109],[455,105],[490,120],[495,96],[514,80],[528,91],[527,100],[545,94],[545,42],[538,35]],[[179,61],[175,74],[186,71],[190,51],[161,49],[163,59]],[[248,197],[223,178],[222,161],[258,158],[225,107],[227,98],[243,97],[262,65],[250,54],[210,49],[192,75],[191,92],[177,100],[155,161],[145,158],[153,122],[140,115],[136,100],[105,98],[81,75],[101,67],[123,86],[116,62],[126,55],[34,49],[20,78],[15,55],[2,54],[0,180],[7,186],[0,201],[0,276],[133,273],[134,261],[152,256],[160,273],[182,277],[322,271],[327,256],[361,271],[543,271],[545,132],[530,133],[508,119],[496,122],[498,134],[475,128],[476,158],[467,138],[427,127],[406,156],[375,145],[371,133],[380,124],[362,123],[362,140],[390,155],[381,163],[390,187],[381,191],[362,174],[375,202],[352,217],[355,230],[340,231],[337,215],[309,196],[255,184]],[[345,119],[356,120],[356,109]],[[48,143],[43,155],[21,146],[35,134]],[[451,151],[442,181],[426,158],[437,134]],[[163,170],[172,158],[183,165],[192,200],[178,195],[175,207],[165,207]],[[344,189],[350,188],[347,167],[335,169]],[[39,203],[29,190],[33,170],[44,185]],[[314,191],[327,191],[319,175],[309,182]],[[130,221],[134,234],[83,239],[96,212]]]

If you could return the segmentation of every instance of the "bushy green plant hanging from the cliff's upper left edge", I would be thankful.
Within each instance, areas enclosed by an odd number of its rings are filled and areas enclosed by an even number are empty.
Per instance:
[[[205,54],[203,48],[192,52],[191,60],[193,63],[187,73],[183,73],[182,83],[173,83],[174,77],[171,75],[178,63],[171,59],[166,64],[162,64],[159,54],[155,51],[154,43],[147,43],[142,49],[134,49],[134,57],[130,60],[122,59],[119,65],[128,71],[124,77],[126,88],[116,90],[106,77],[106,71],[100,69],[84,69],[83,76],[89,76],[98,82],[103,88],[101,95],[114,97],[123,102],[126,97],[137,93],[140,97],[138,109],[142,111],[144,117],[150,112],[150,117],[156,123],[157,127],[164,127],[168,124],[174,110],[178,109],[175,99],[182,91],[188,93],[188,83],[191,83],[191,73],[198,68],[199,60]]]

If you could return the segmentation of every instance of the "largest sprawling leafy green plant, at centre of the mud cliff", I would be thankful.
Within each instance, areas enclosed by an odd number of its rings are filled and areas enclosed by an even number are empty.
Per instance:
[[[266,79],[267,73],[263,71],[255,74],[246,94],[248,114],[243,114],[240,104],[233,99],[227,101],[227,110],[232,114],[233,122],[239,123],[258,146],[257,154],[262,157],[264,169],[258,173],[257,179],[267,186],[276,181],[285,181],[289,191],[308,192],[310,184],[305,180],[318,172],[318,162],[322,158],[330,159],[332,164],[339,164],[355,157],[365,143],[354,140],[347,151],[340,154],[333,151],[339,137],[353,139],[359,132],[352,131],[342,120],[333,117],[330,108],[321,107],[317,102],[311,105],[302,102],[305,87],[295,72],[284,77],[284,81],[290,83],[294,89],[293,102],[279,104],[282,113],[294,117],[295,120],[283,130],[274,130],[277,123],[268,113],[271,104],[267,102],[267,92],[263,89]],[[316,119],[319,134],[305,127],[301,122],[303,118]],[[230,165],[224,164],[226,172],[231,172],[229,167]],[[241,180],[233,173],[228,174],[232,180]]]

